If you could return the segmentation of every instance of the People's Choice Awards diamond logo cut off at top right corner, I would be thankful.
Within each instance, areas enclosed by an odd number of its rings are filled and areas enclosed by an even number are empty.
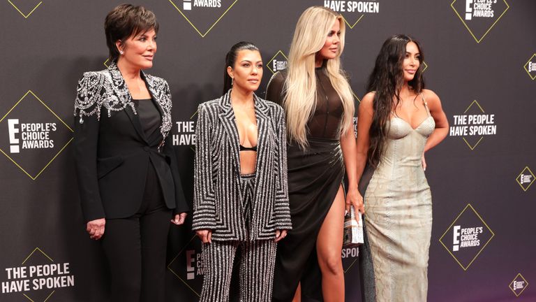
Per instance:
[[[509,8],[505,0],[454,0],[450,6],[477,43],[482,41]]]

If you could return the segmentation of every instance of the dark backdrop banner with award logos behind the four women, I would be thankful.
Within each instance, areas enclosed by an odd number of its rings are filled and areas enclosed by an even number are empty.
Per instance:
[[[104,17],[123,1],[0,1],[0,301],[109,301],[99,243],[82,220],[73,168],[73,103],[84,71],[105,69]],[[346,23],[343,67],[356,105],[392,34],[423,45],[427,87],[449,136],[426,154],[433,196],[429,301],[536,301],[536,1],[147,0],[170,83],[173,145],[192,201],[198,104],[220,96],[224,57],[253,41],[258,95],[285,69],[301,12]],[[168,301],[198,301],[200,240],[171,226]],[[347,301],[361,301],[359,252],[344,249]]]

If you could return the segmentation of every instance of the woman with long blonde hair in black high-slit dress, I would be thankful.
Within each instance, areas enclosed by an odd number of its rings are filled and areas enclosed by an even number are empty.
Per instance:
[[[278,246],[274,301],[344,301],[345,208],[364,211],[357,199],[354,101],[340,62],[344,34],[341,15],[307,8],[296,25],[288,69],[267,88],[267,99],[281,104],[287,116],[292,217],[292,231]]]

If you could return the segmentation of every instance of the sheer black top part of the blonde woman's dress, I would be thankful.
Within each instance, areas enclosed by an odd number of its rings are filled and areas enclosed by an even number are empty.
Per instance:
[[[283,99],[285,99],[283,86],[286,76],[286,71],[280,71],[270,80],[266,92],[267,100],[283,106]],[[325,67],[316,68],[315,76],[316,108],[307,122],[307,137],[339,139],[344,113],[343,102],[329,80]]]

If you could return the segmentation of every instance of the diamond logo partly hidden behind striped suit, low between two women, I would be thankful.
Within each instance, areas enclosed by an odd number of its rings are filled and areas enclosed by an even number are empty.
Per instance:
[[[188,289],[200,296],[203,285],[203,261],[201,258],[201,240],[193,236],[182,250],[175,256],[168,269]]]

